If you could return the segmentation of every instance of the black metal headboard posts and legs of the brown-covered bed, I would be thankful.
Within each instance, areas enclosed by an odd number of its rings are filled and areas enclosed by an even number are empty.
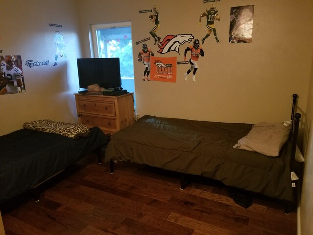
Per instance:
[[[292,95],[293,99],[292,99],[292,111],[291,111],[291,133],[290,133],[290,138],[292,139],[292,146],[291,146],[291,159],[290,159],[290,171],[294,171],[297,172],[296,166],[295,166],[295,153],[296,153],[296,147],[297,147],[297,138],[298,138],[298,130],[299,130],[299,124],[300,124],[300,118],[301,118],[301,114],[296,113],[296,107],[297,107],[297,98],[298,95],[297,94],[293,94]],[[111,140],[111,136],[108,135],[108,140]],[[113,174],[114,172],[114,162],[117,162],[116,160],[113,160],[113,158],[111,158],[109,160],[110,162],[110,172],[111,174]],[[180,189],[185,189],[188,186],[189,183],[189,174],[187,173],[181,173],[181,180],[180,180]],[[293,182],[293,184],[295,184],[295,182]],[[301,185],[299,183],[299,185]],[[289,212],[290,207],[293,207],[293,204],[297,204],[297,191],[296,188],[293,188],[294,191],[294,203],[285,201],[285,213],[287,214]]]

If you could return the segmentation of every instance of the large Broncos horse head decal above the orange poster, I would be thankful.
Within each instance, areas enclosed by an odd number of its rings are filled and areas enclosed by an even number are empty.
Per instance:
[[[160,49],[157,52],[160,54],[165,54],[170,51],[179,53],[179,47],[184,43],[190,43],[193,38],[194,36],[192,36],[192,34],[167,35],[162,42],[158,43],[157,46]]]

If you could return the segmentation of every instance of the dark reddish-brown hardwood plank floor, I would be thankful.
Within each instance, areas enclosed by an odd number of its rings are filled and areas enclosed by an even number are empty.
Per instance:
[[[92,157],[92,159],[90,158]],[[6,235],[296,235],[296,211],[254,195],[245,209],[215,181],[144,165],[98,165],[95,155],[1,208]]]

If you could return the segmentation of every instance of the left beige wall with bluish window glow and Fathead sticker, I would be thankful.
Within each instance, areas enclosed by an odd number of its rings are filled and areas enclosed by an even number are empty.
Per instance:
[[[22,128],[25,121],[77,121],[74,97],[78,91],[76,58],[80,56],[76,0],[1,0],[1,55],[21,55],[26,92],[0,96],[0,135]],[[55,28],[59,24],[67,59],[58,58]],[[27,60],[49,65],[29,68]]]

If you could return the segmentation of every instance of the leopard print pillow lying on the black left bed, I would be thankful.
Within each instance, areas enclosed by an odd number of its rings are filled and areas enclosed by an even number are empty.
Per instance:
[[[90,129],[83,124],[58,122],[51,120],[38,120],[25,122],[23,127],[30,130],[43,131],[60,134],[73,139],[87,137],[90,135]]]

